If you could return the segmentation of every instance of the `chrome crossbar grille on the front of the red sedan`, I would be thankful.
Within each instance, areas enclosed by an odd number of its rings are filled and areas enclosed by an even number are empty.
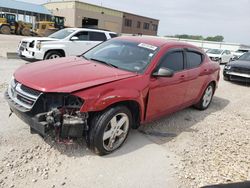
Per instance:
[[[6,97],[22,112],[32,109],[42,92],[29,88],[16,80],[9,85]]]

